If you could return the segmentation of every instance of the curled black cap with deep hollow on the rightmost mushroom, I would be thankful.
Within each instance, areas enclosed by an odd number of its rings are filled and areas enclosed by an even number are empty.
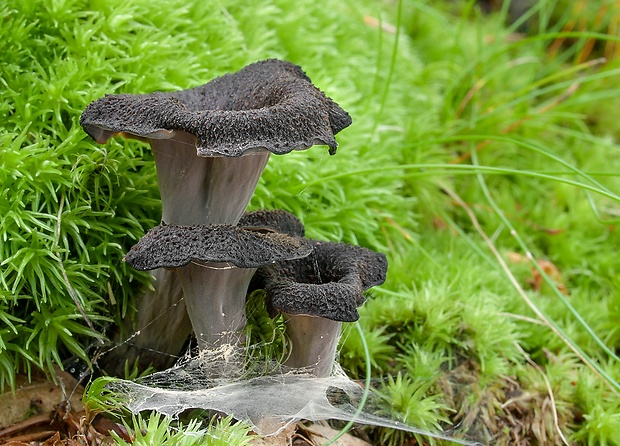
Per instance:
[[[362,293],[385,281],[385,255],[345,243],[310,242],[312,254],[260,268],[253,287],[265,289],[272,314],[358,320]]]

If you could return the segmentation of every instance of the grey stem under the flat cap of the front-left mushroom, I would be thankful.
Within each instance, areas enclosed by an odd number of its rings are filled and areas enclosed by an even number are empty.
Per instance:
[[[255,271],[228,263],[190,263],[177,269],[200,350],[242,340],[245,298]]]

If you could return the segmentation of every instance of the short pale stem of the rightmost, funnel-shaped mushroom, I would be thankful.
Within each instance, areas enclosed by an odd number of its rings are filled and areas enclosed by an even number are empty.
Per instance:
[[[285,365],[307,368],[319,378],[329,376],[336,360],[342,322],[300,314],[285,314],[285,318],[291,342],[291,353]]]

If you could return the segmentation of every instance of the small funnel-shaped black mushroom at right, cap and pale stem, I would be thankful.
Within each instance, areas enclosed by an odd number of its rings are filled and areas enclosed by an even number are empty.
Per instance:
[[[290,339],[285,365],[329,376],[342,322],[359,318],[363,292],[385,281],[384,254],[345,243],[310,241],[307,257],[259,269],[254,286],[263,287],[272,314],[284,315]]]

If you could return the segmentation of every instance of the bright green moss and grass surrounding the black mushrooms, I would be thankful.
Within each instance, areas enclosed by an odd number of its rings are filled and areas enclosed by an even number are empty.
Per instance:
[[[571,19],[560,3],[538,2],[525,37],[474,2],[3,3],[0,386],[70,356],[92,359],[147,279],[122,258],[160,218],[152,156],[135,141],[94,144],[78,124],[86,104],[280,57],[354,125],[336,156],[315,147],[272,157],[251,207],[290,210],[311,237],[388,254],[388,280],[361,311],[382,410],[422,428],[471,422],[483,438],[485,410],[514,415],[502,407],[512,393],[547,398],[519,345],[545,371],[566,435],[617,444],[619,71],[617,61],[574,63],[585,38],[550,54],[558,35],[548,33]],[[569,295],[533,288],[532,265],[508,261],[518,293],[455,194],[502,258],[551,262]],[[258,316],[249,333],[269,341]],[[343,366],[362,376],[360,337],[350,331],[342,346]]]

